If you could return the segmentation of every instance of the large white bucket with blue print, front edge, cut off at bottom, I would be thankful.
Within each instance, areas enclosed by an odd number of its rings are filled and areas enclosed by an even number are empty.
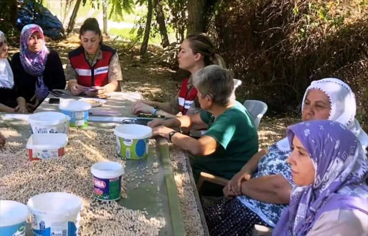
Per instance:
[[[29,198],[33,235],[77,236],[82,199],[66,192],[46,192]]]

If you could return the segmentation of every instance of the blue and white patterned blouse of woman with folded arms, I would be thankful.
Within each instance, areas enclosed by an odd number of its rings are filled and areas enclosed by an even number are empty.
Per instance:
[[[270,146],[268,154],[259,160],[258,168],[253,174],[253,178],[272,174],[282,174],[286,180],[293,185],[291,168],[290,165],[286,163],[289,154],[290,150],[281,151],[276,144]],[[236,198],[271,227],[276,226],[282,211],[287,207],[287,204],[265,203],[244,195],[237,196]]]

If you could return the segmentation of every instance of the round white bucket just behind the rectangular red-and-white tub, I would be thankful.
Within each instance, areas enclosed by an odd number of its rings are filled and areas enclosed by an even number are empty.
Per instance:
[[[32,133],[69,132],[70,118],[61,112],[46,111],[32,114],[28,118]]]

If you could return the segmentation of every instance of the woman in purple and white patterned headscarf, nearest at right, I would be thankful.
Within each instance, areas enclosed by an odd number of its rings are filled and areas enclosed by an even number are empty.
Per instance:
[[[273,235],[368,235],[367,157],[356,135],[333,121],[287,130],[294,183]]]

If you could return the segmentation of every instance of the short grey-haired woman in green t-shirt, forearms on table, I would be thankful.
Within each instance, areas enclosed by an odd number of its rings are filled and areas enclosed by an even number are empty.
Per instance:
[[[193,83],[204,111],[166,121],[155,120],[148,125],[153,128],[153,136],[167,138],[195,156],[191,158],[195,181],[201,171],[231,179],[258,152],[257,129],[247,109],[230,99],[234,81],[229,70],[216,65],[206,66],[194,74]],[[192,125],[208,131],[195,139],[171,129]],[[203,194],[222,196],[222,187],[209,188]]]

